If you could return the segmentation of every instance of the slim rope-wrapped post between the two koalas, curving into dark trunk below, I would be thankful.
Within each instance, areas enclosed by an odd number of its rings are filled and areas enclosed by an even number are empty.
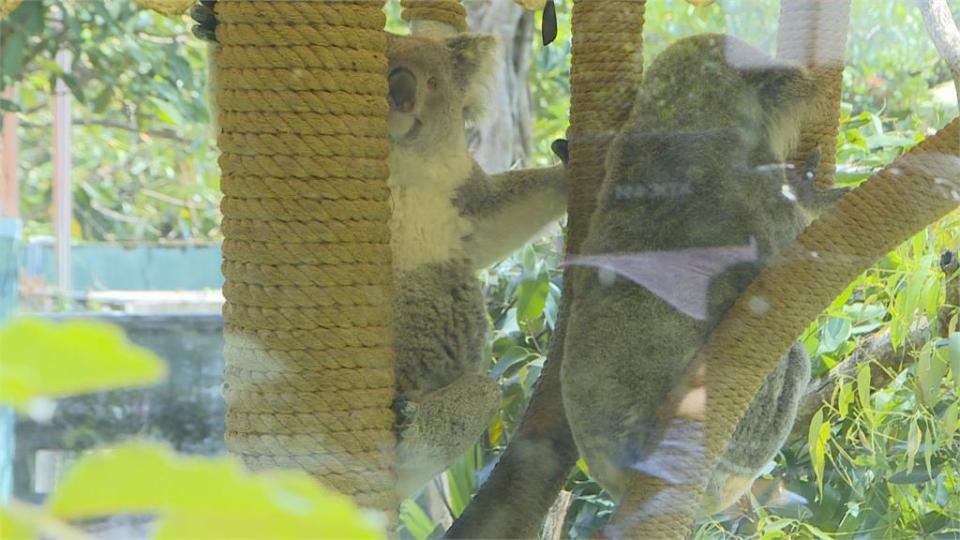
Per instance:
[[[568,254],[577,253],[586,236],[604,176],[606,144],[633,106],[643,69],[644,6],[642,0],[573,3]],[[490,478],[447,531],[447,538],[536,536],[576,463],[577,450],[560,396],[563,347],[559,345],[574,297],[575,271],[576,267],[564,270],[563,300],[550,352],[523,420]]]

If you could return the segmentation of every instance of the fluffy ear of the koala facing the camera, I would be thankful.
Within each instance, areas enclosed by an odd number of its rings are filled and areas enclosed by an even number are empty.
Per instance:
[[[453,59],[453,80],[464,96],[464,120],[477,120],[494,86],[499,43],[489,35],[460,34],[448,38],[446,45]]]

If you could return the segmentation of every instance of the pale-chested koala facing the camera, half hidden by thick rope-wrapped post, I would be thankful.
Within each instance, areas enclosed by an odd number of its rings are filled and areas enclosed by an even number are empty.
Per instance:
[[[215,41],[214,10],[204,0],[192,11],[198,37]],[[469,449],[499,407],[481,365],[489,323],[477,270],[566,211],[562,165],[490,176],[467,151],[465,123],[484,111],[496,57],[491,36],[387,35],[402,497]]]

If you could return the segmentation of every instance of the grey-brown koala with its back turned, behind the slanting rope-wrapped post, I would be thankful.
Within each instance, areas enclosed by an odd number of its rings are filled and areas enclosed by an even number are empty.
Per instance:
[[[584,255],[568,263],[588,268],[574,283],[561,385],[581,456],[618,500],[632,472],[670,474],[659,460],[678,448],[671,437],[702,436],[679,417],[658,432],[658,406],[737,296],[837,198],[814,189],[817,156],[802,174],[784,165],[814,91],[802,69],[733,37],[682,39],[654,60],[608,149]],[[737,427],[702,514],[733,503],[776,455],[809,377],[795,344]],[[690,480],[682,472],[676,482]]]

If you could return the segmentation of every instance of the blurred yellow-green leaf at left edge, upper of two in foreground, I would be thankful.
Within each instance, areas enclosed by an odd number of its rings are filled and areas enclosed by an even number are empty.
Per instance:
[[[94,321],[18,319],[0,328],[0,402],[29,412],[37,400],[151,384],[166,377],[152,352]]]

